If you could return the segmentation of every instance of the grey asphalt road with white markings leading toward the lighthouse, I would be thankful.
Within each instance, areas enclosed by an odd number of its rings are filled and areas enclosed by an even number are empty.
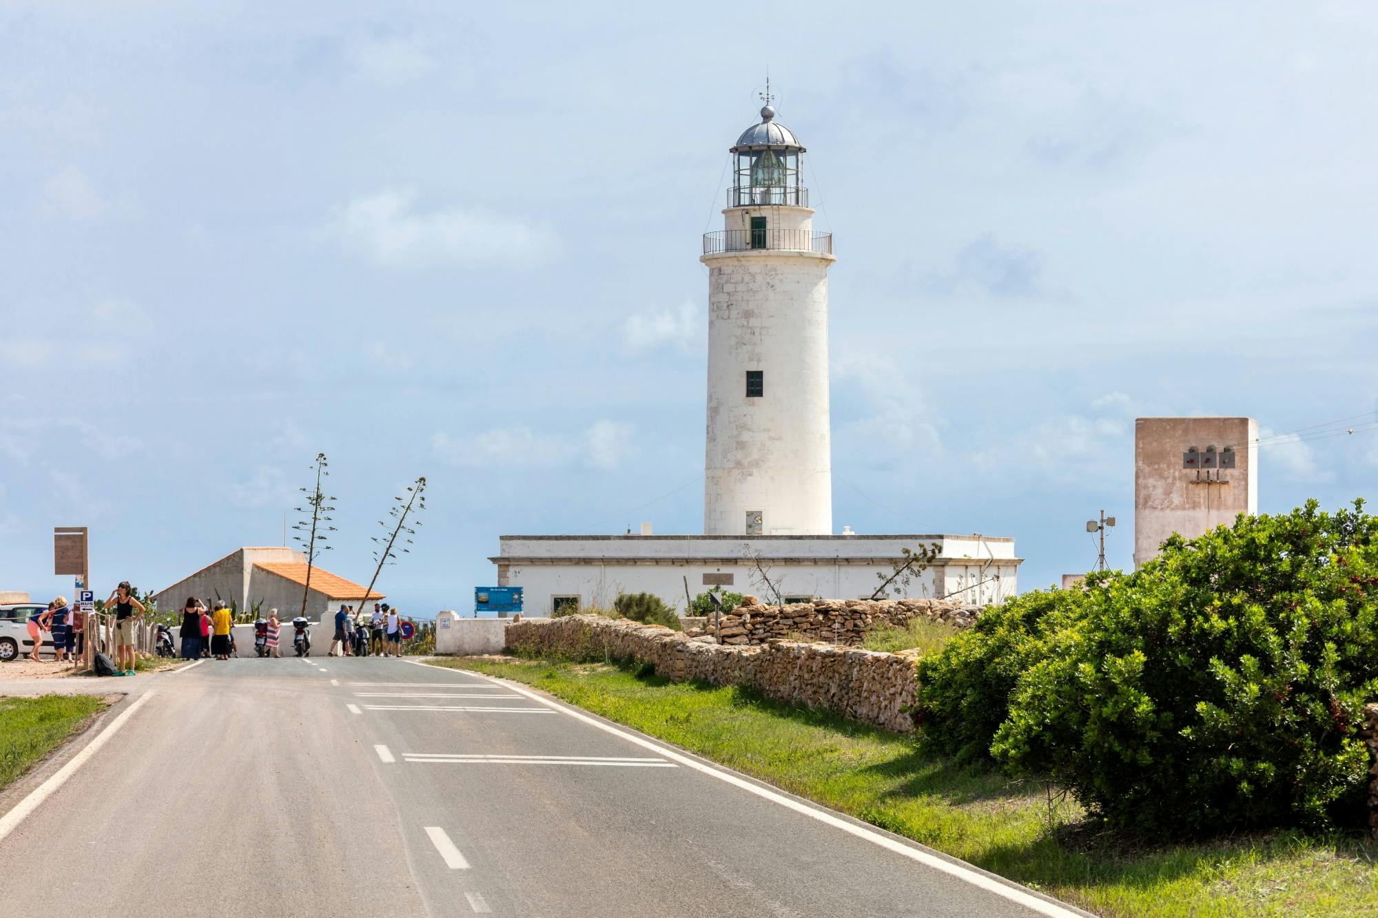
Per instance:
[[[1040,908],[474,674],[238,659],[110,682],[152,697],[0,841],[8,914]]]

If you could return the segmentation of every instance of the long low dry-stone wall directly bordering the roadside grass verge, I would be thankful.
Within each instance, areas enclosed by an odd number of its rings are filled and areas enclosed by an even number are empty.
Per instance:
[[[755,615],[761,613],[745,612],[734,618]],[[605,656],[639,660],[677,682],[741,685],[765,697],[834,711],[889,731],[907,733],[914,729],[909,711],[918,691],[915,652],[876,653],[788,641],[719,645],[711,635],[692,637],[656,624],[598,615],[508,624],[507,649],[566,660]]]

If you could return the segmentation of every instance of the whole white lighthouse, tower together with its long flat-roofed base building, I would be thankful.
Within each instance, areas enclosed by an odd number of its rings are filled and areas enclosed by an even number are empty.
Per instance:
[[[905,584],[908,595],[984,605],[1016,593],[1014,539],[834,535],[828,269],[836,259],[832,234],[813,229],[805,147],[769,102],[730,147],[723,227],[704,236],[700,256],[708,267],[703,535],[655,535],[642,522],[635,535],[502,536],[489,558],[497,586],[522,587],[528,615],[609,609],[623,593],[655,593],[683,611],[714,587],[772,602],[864,600],[905,549],[921,546],[937,557]]]

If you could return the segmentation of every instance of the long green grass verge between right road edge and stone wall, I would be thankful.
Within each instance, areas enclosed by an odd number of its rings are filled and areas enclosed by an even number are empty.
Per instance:
[[[533,685],[1097,914],[1378,914],[1378,852],[1357,838],[1276,833],[1162,845],[1101,831],[1043,784],[736,688],[672,684],[635,664],[431,663]]]

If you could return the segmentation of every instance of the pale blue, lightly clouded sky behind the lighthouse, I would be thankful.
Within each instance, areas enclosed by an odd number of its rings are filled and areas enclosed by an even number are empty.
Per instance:
[[[471,608],[503,533],[703,531],[700,238],[758,120],[830,230],[834,522],[1131,567],[1133,430],[1378,409],[1368,3],[0,3],[0,590],[280,544]],[[1367,418],[1366,418],[1367,415]],[[1374,496],[1282,440],[1259,509]],[[295,535],[287,531],[288,538]]]

